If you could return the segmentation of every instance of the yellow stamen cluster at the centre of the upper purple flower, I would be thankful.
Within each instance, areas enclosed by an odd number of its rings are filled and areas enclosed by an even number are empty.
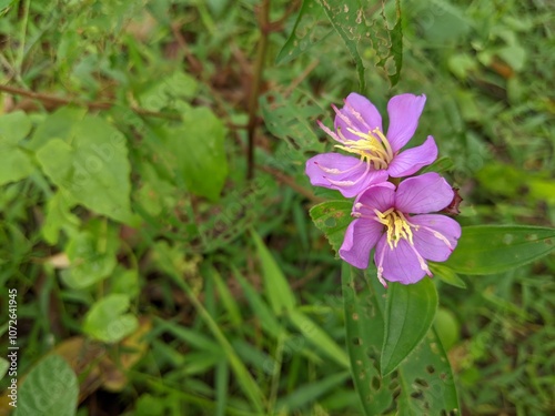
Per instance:
[[[374,129],[367,133],[347,128],[347,131],[361,140],[346,139],[341,130],[337,130],[337,135],[343,144],[336,144],[335,148],[342,149],[349,153],[355,153],[361,156],[362,161],[367,164],[372,163],[374,169],[387,169],[387,165],[393,159],[393,150],[391,149],[387,138],[380,131]]]

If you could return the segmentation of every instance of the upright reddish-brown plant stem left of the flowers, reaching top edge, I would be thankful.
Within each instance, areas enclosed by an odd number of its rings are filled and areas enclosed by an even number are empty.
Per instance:
[[[254,176],[254,136],[256,132],[256,113],[259,110],[259,95],[262,85],[262,74],[264,72],[264,61],[268,49],[268,37],[270,34],[270,0],[262,0],[259,16],[260,40],[256,50],[256,61],[252,78],[251,95],[249,97],[249,125],[248,149],[246,149],[246,179]]]

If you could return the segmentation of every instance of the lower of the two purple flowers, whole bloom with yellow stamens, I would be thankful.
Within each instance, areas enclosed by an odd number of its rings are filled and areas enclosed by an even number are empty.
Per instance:
[[[370,186],[355,200],[340,256],[359,268],[369,266],[375,247],[377,278],[403,284],[432,276],[427,260],[444,262],[461,236],[461,226],[445,215],[428,214],[447,206],[453,190],[435,172]],[[412,215],[414,214],[414,215]]]

